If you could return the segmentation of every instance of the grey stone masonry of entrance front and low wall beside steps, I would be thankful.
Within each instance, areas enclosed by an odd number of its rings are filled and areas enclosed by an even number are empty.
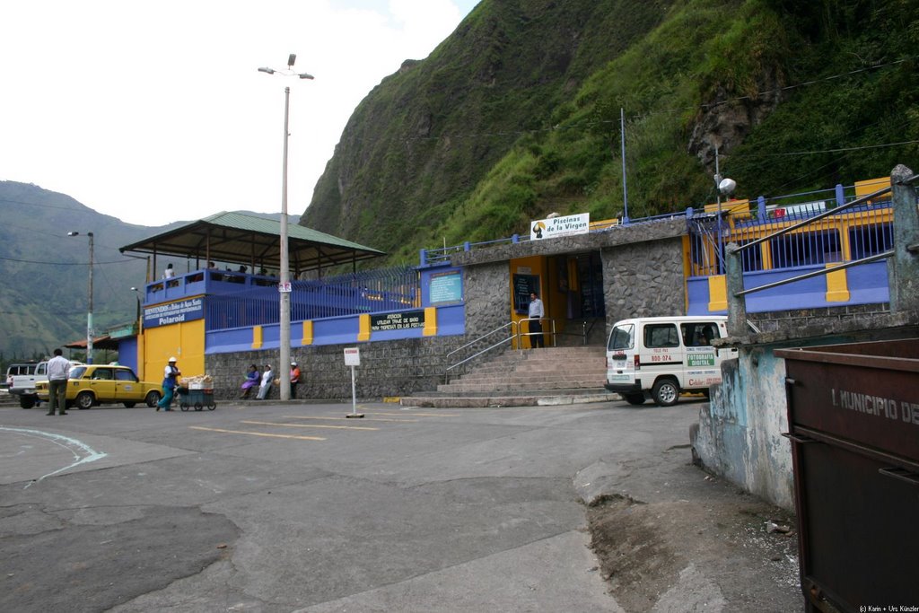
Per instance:
[[[680,314],[686,304],[681,238],[685,233],[686,221],[676,218],[603,233],[505,244],[456,254],[452,264],[463,268],[465,335],[293,347],[291,358],[297,360],[302,372],[297,397],[320,400],[351,397],[351,372],[344,359],[346,346],[360,348],[360,366],[356,369],[358,398],[379,399],[436,390],[444,382],[448,366],[511,334],[507,329],[506,333],[487,336],[451,353],[510,321],[509,261],[516,257],[599,251],[603,261],[607,329],[626,317]],[[482,359],[493,358],[509,346],[510,343],[505,343],[471,360],[466,367],[454,369],[455,374]],[[249,364],[255,364],[260,371],[266,363],[271,364],[279,374],[277,349],[209,355],[205,362],[206,371],[214,379],[216,400],[238,396]],[[278,390],[274,389],[270,397],[277,399]]]

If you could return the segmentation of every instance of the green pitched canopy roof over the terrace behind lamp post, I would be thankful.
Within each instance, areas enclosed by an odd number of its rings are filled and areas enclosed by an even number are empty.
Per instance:
[[[154,269],[156,258],[163,255],[194,259],[199,267],[206,267],[209,261],[219,261],[243,264],[251,269],[279,269],[279,241],[280,221],[220,212],[123,246],[120,251],[153,255]],[[386,255],[294,223],[288,225],[288,253],[290,268],[295,274],[341,264],[354,265],[359,260]]]

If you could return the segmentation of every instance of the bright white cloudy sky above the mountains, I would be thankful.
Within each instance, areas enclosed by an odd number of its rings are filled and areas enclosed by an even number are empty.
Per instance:
[[[479,0],[30,0],[0,34],[0,180],[144,226],[299,215],[347,119]],[[315,79],[260,73],[267,66]]]

